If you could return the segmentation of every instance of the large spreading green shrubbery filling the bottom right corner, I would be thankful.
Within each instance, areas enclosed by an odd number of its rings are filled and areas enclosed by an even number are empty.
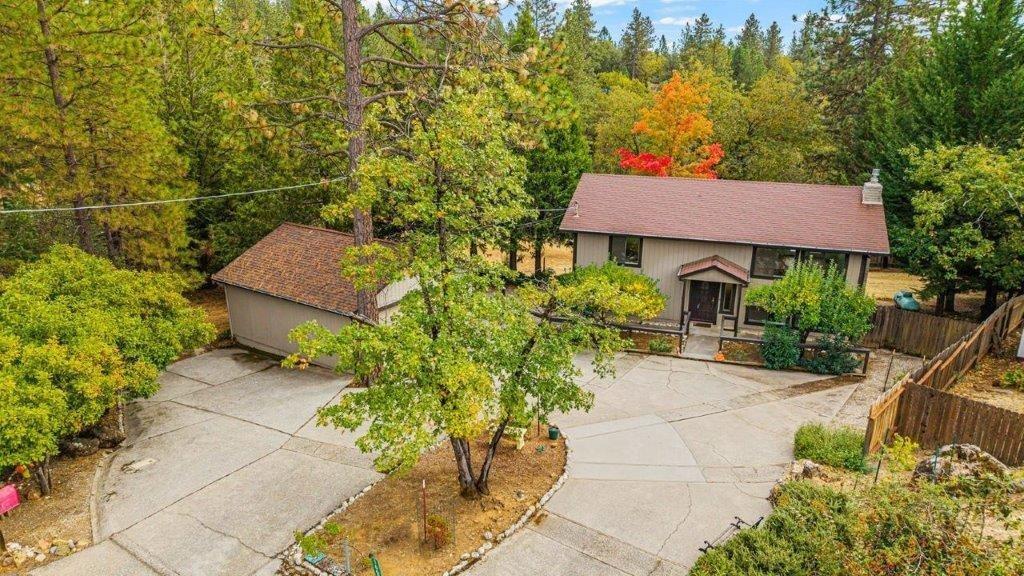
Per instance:
[[[791,482],[775,509],[697,560],[691,576],[1009,576],[1024,574],[1020,539],[981,537],[982,497],[943,486],[863,483],[839,492]],[[996,502],[988,502],[989,526]],[[1006,503],[1004,500],[1002,503]]]

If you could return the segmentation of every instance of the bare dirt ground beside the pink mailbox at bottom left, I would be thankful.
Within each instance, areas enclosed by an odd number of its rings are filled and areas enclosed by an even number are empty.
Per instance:
[[[0,530],[7,542],[17,542],[23,546],[37,547],[40,540],[75,540],[88,545],[92,540],[92,524],[89,516],[89,494],[96,464],[103,458],[100,451],[81,458],[56,458],[52,466],[53,487],[49,496],[39,497],[34,485],[26,482],[19,486],[22,505],[14,508],[7,518],[0,519]],[[30,495],[26,496],[27,493]],[[48,548],[49,546],[47,546]],[[59,557],[45,552],[49,563]],[[20,570],[42,565],[29,561]],[[13,566],[0,567],[0,574],[19,574]]]

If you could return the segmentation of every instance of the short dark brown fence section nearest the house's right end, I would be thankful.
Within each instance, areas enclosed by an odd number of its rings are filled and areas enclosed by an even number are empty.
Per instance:
[[[931,358],[964,337],[978,325],[966,320],[879,306],[874,327],[861,340],[865,346],[895,348],[904,354]]]

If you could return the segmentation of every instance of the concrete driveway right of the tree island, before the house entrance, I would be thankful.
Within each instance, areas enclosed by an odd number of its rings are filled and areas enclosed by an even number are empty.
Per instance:
[[[587,370],[594,409],[557,419],[572,451],[547,517],[470,574],[686,574],[734,517],[753,523],[770,511],[796,429],[830,420],[855,387],[662,357],[624,357],[616,373]]]

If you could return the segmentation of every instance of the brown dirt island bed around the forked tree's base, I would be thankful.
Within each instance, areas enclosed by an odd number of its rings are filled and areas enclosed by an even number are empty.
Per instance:
[[[525,446],[515,449],[512,440],[502,442],[490,476],[490,495],[478,500],[459,496],[455,459],[449,444],[423,456],[409,472],[392,476],[374,486],[330,522],[341,528],[339,535],[324,535],[330,558],[344,558],[343,541],[349,538],[355,574],[372,571],[361,562],[376,554],[388,576],[441,574],[460,557],[479,547],[484,533],[499,534],[551,488],[565,468],[565,444],[550,441],[547,426],[526,433]],[[473,446],[474,465],[479,466],[486,439]],[[439,549],[421,542],[422,486],[426,480],[427,512],[431,526],[443,526],[451,543]],[[360,562],[356,562],[359,559]]]

